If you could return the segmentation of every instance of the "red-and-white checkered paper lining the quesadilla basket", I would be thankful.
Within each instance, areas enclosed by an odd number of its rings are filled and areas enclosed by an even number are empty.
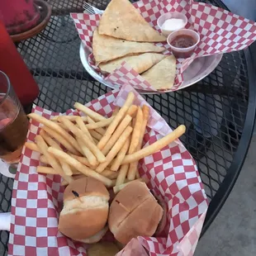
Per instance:
[[[204,2],[193,2],[192,0],[141,0],[140,2],[135,2],[134,6],[139,10],[141,16],[159,32],[157,19],[162,14],[166,12],[183,12],[188,18],[187,28],[192,28],[200,34],[201,41],[195,53],[190,58],[177,60],[177,76],[171,91],[183,88],[183,72],[192,64],[194,59],[206,55],[243,50],[256,40],[256,23],[254,21],[249,21],[244,17],[239,17],[234,13]],[[77,28],[78,35],[85,45],[84,47],[92,50],[92,33],[98,26],[101,15],[72,13],[71,17]],[[165,55],[171,55],[167,43],[157,45],[165,47]],[[92,54],[89,55],[88,62],[106,81],[119,85],[130,83],[136,89],[155,91],[152,85],[147,83],[135,70],[131,70],[128,65],[121,65],[120,69],[116,69],[113,73],[106,75],[97,68]]]

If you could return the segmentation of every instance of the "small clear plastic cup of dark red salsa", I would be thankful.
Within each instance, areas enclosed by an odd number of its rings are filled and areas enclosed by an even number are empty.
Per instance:
[[[176,58],[188,58],[200,42],[200,36],[196,31],[182,29],[171,33],[167,42]]]

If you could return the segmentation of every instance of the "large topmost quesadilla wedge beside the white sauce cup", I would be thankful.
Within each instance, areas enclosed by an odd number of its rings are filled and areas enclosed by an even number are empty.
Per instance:
[[[162,42],[155,31],[128,0],[111,0],[98,26],[101,35],[137,42]]]

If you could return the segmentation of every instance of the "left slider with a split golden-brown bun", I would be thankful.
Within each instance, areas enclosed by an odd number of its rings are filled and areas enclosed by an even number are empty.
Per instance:
[[[109,193],[94,178],[74,180],[64,191],[59,231],[74,240],[96,235],[107,223]]]

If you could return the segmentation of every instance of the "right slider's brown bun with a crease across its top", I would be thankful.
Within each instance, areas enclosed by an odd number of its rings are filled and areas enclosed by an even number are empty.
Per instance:
[[[116,240],[127,244],[137,236],[152,236],[162,219],[163,209],[145,183],[132,182],[111,203],[108,226]]]

